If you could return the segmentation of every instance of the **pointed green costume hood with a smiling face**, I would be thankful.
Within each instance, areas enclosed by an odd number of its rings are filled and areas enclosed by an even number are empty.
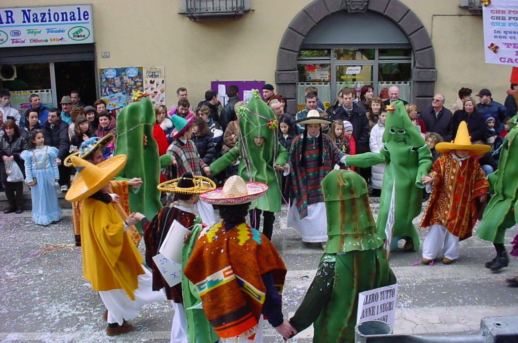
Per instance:
[[[395,141],[399,146],[422,147],[426,142],[408,117],[403,102],[395,101],[387,108],[393,108],[393,110],[387,110],[382,141],[384,143]]]

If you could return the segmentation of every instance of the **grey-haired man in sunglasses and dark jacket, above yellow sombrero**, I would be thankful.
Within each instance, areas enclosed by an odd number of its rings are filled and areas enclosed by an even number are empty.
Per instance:
[[[431,106],[423,108],[420,118],[426,125],[428,132],[436,132],[444,138],[444,141],[451,141],[453,138],[452,112],[444,107],[444,95],[436,94],[431,99]]]

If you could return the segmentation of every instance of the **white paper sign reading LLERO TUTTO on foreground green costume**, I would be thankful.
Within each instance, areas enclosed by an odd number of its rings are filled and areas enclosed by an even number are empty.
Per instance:
[[[396,319],[397,283],[358,294],[356,324],[381,320],[394,325]]]

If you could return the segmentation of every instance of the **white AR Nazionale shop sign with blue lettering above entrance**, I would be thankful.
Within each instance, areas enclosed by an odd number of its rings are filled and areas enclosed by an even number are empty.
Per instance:
[[[0,48],[93,42],[92,5],[0,8]]]

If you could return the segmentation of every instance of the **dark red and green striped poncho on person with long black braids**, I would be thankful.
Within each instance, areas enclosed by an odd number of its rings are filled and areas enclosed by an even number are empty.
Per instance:
[[[304,139],[303,135],[293,140],[290,151],[290,175],[287,181],[290,199],[295,199],[300,219],[308,215],[308,205],[324,201],[320,182],[345,156],[329,136],[322,135],[322,153],[320,153],[319,137]],[[306,165],[300,165],[303,144],[306,144]],[[320,166],[319,159],[322,159]]]

